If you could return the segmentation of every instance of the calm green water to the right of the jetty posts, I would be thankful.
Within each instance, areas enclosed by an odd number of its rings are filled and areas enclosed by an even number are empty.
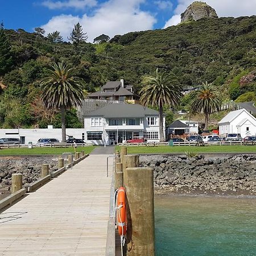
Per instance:
[[[156,255],[256,255],[256,199],[155,197]]]

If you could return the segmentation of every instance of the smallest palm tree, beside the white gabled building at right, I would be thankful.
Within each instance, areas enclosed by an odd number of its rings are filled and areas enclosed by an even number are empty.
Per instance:
[[[208,84],[206,81],[203,83],[199,90],[191,93],[191,110],[193,112],[204,112],[205,126],[208,129],[208,119],[210,114],[221,110],[221,96],[213,85]]]

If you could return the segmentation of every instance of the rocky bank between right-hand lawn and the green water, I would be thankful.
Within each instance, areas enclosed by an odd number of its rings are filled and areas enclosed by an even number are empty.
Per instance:
[[[141,155],[154,169],[156,195],[256,196],[256,156]]]

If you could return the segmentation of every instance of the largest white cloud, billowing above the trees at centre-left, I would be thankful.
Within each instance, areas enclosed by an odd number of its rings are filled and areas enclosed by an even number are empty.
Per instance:
[[[109,0],[98,7],[93,16],[59,15],[41,27],[47,33],[60,31],[64,40],[67,40],[74,24],[79,22],[84,32],[87,32],[89,42],[93,42],[93,39],[101,34],[111,38],[130,31],[152,29],[156,19],[150,13],[140,10],[139,6],[143,2],[144,0]]]

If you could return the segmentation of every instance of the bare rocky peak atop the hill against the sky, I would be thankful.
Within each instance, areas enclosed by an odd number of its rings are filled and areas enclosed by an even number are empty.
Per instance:
[[[218,18],[216,11],[204,2],[193,2],[187,10],[181,14],[181,23],[201,18]]]

